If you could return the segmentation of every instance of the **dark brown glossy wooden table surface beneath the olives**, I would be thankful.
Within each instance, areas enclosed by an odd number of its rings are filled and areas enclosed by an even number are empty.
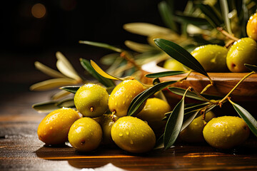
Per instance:
[[[53,92],[27,92],[1,97],[0,170],[257,170],[257,140],[229,151],[206,144],[176,145],[133,155],[117,147],[78,153],[69,146],[46,147],[36,134],[46,114],[31,108]],[[104,169],[103,169],[104,167]]]

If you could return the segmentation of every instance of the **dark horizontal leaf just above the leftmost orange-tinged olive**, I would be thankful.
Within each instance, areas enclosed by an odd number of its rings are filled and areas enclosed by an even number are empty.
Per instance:
[[[64,100],[48,101],[48,102],[36,103],[36,104],[32,105],[32,108],[34,108],[34,110],[37,110],[39,113],[51,112],[51,111],[54,111],[54,110],[57,110],[57,109],[63,108],[63,107],[65,107],[65,108],[75,107],[74,99],[66,98]]]

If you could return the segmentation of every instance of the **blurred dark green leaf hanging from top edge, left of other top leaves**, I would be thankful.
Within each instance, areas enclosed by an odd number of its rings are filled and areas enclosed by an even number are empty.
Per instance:
[[[178,28],[176,26],[176,23],[174,21],[173,11],[170,6],[166,3],[166,1],[161,1],[158,4],[158,10],[161,14],[161,18],[163,19],[163,22],[168,26],[168,28],[171,28],[173,31],[178,31]]]

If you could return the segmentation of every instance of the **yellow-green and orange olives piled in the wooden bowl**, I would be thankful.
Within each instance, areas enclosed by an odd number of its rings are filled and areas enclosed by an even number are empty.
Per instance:
[[[248,72],[244,63],[257,65],[257,13],[248,20],[246,31],[248,37],[234,42],[229,50],[223,46],[208,44],[194,49],[191,55],[207,72]],[[181,63],[172,59],[166,61],[163,67],[176,71],[187,70]]]

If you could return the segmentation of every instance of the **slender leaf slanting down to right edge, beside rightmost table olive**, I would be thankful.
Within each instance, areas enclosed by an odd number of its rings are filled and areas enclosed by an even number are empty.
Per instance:
[[[248,113],[248,111],[244,108],[242,108],[240,105],[233,103],[231,100],[229,100],[230,103],[233,105],[233,108],[235,108],[238,115],[240,115],[241,118],[246,122],[248,127],[250,128],[251,132],[256,135],[257,137],[257,121],[253,116]]]

